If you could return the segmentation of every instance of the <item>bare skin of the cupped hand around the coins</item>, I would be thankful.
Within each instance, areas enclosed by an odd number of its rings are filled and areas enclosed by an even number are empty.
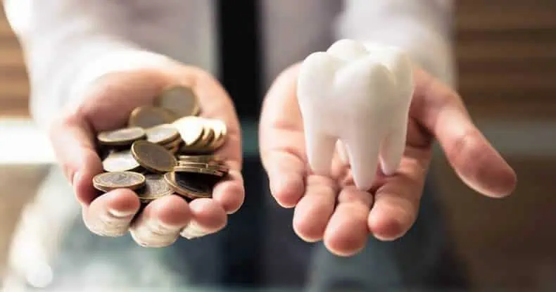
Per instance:
[[[203,116],[226,122],[228,138],[217,155],[227,158],[230,178],[215,186],[213,198],[187,203],[177,195],[150,203],[134,220],[139,199],[133,191],[117,189],[98,196],[92,185],[102,172],[94,149],[96,133],[124,127],[137,106],[153,103],[164,87],[184,84],[198,95]],[[87,228],[100,236],[122,236],[131,232],[141,246],[163,247],[179,236],[189,239],[224,228],[227,215],[244,202],[241,177],[241,134],[234,106],[227,92],[208,73],[180,64],[165,64],[149,70],[110,73],[89,86],[83,102],[67,108],[53,121],[49,135],[56,158],[64,170]]]

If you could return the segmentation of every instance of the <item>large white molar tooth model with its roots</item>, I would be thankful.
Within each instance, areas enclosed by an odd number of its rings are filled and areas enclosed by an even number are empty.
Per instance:
[[[358,189],[371,188],[379,158],[384,174],[396,172],[412,94],[410,58],[393,46],[342,39],[310,54],[297,95],[312,171],[329,174],[338,142]]]

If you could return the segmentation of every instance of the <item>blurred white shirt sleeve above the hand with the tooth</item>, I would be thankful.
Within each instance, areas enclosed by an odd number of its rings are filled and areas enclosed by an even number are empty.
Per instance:
[[[398,46],[455,86],[453,0],[345,0],[336,37]]]

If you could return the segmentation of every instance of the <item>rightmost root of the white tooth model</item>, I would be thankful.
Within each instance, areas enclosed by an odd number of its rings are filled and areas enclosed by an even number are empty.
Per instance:
[[[386,175],[391,175],[398,170],[405,150],[405,137],[407,134],[407,119],[402,119],[403,125],[386,134],[380,148],[381,170]],[[400,122],[401,123],[401,122]]]

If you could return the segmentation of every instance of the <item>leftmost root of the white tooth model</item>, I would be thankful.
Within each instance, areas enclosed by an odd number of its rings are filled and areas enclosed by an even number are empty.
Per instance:
[[[336,137],[305,127],[305,151],[309,166],[315,174],[330,173],[335,143]]]

